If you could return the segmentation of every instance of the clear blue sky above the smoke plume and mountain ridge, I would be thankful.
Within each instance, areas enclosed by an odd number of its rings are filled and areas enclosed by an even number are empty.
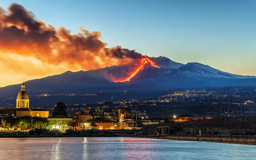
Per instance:
[[[4,9],[13,1],[1,1]],[[256,76],[255,0],[17,0],[54,27],[100,31],[108,46]]]

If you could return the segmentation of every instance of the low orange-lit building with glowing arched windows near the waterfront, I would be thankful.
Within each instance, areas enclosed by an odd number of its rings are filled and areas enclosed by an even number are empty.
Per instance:
[[[97,125],[97,129],[99,130],[117,130],[118,129],[118,123],[113,122],[106,119],[92,119],[84,124],[85,129],[90,129],[91,123],[95,123]]]

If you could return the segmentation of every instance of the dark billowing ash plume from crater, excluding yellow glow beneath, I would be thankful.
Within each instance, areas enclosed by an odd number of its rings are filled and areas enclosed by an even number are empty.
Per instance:
[[[0,52],[34,57],[58,66],[80,66],[83,70],[129,64],[142,55],[120,46],[106,48],[99,31],[71,34],[64,27],[55,28],[36,20],[34,14],[20,4],[7,11],[0,7]]]

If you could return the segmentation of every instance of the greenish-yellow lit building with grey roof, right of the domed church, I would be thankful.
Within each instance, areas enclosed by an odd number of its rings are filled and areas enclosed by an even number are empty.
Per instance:
[[[61,131],[69,129],[68,122],[72,122],[72,118],[67,116],[50,116],[47,119],[50,121],[52,129],[57,128]]]

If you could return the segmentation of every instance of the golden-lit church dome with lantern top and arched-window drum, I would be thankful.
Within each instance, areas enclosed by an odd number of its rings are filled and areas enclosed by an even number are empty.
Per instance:
[[[25,90],[25,84],[21,84],[21,90],[16,99],[16,108],[29,108],[28,93]]]

